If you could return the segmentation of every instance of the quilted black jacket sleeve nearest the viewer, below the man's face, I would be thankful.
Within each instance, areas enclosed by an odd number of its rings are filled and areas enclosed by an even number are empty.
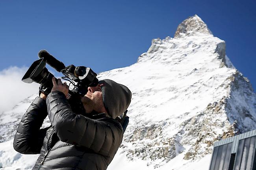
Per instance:
[[[50,122],[59,139],[80,145],[103,156],[112,157],[122,141],[121,124],[112,118],[90,119],[72,112],[62,92],[46,98]]]

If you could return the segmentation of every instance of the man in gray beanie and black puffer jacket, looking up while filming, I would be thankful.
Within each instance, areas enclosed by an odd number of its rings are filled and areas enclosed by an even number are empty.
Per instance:
[[[106,170],[122,141],[115,118],[130,105],[130,90],[112,80],[99,81],[81,99],[86,110],[81,115],[70,108],[67,84],[52,82],[47,98],[41,93],[21,119],[14,149],[40,154],[32,170]],[[51,126],[40,129],[47,112]]]

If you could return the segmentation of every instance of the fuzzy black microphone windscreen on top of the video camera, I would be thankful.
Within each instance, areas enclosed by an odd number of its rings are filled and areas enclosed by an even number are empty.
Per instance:
[[[39,58],[44,58],[46,60],[46,63],[48,63],[52,68],[54,68],[56,71],[60,72],[62,69],[65,69],[65,65],[63,62],[57,60],[49,54],[46,50],[40,50],[38,52]]]

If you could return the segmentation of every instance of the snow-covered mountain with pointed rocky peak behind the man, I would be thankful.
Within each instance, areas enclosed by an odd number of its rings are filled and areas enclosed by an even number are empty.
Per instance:
[[[249,80],[226,56],[225,42],[197,15],[178,25],[174,38],[153,39],[133,65],[98,75],[105,78],[132,91],[130,123],[109,170],[207,170],[214,141],[256,128]],[[35,96],[0,117],[0,165],[6,170],[30,169],[37,158],[11,149]]]

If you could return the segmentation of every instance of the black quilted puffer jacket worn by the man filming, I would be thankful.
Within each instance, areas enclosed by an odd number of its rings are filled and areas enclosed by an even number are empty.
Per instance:
[[[40,129],[47,111],[51,126]],[[13,147],[22,154],[40,154],[32,170],[106,170],[122,136],[118,121],[75,114],[65,95],[55,91],[46,101],[35,98],[20,121]]]

